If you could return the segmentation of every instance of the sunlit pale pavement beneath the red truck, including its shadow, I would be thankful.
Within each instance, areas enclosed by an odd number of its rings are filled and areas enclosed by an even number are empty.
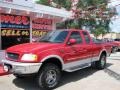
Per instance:
[[[0,90],[40,90],[34,78],[17,79],[13,75],[0,77]],[[107,59],[104,70],[85,68],[64,72],[54,90],[120,90],[120,52]]]

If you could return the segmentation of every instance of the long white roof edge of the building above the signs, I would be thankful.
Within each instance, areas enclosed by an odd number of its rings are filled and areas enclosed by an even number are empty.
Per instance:
[[[45,5],[35,4],[33,3],[31,6],[24,6],[24,5],[18,5],[14,3],[6,3],[0,1],[0,7],[2,8],[8,8],[8,9],[14,9],[14,10],[20,10],[20,11],[27,11],[32,12],[36,14],[48,14],[51,16],[56,16],[58,18],[70,18],[71,12],[63,10],[63,9],[57,9]]]

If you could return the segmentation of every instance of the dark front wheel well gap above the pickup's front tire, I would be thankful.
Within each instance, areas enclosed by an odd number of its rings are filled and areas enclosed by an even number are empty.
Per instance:
[[[59,59],[57,58],[49,58],[49,59],[46,59],[43,64],[42,64],[42,67],[45,65],[45,64],[48,64],[48,63],[53,63],[55,65],[57,65],[61,70],[62,70],[62,63],[60,62]]]

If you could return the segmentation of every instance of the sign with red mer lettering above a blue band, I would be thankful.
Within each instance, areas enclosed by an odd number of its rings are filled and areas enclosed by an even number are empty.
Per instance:
[[[1,27],[2,28],[29,29],[30,19],[27,16],[2,14],[1,15]]]

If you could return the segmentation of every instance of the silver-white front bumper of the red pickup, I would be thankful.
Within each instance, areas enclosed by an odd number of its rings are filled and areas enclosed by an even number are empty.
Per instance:
[[[37,73],[42,63],[20,63],[9,60],[2,60],[4,69],[8,68],[10,73],[15,74],[34,74]]]

